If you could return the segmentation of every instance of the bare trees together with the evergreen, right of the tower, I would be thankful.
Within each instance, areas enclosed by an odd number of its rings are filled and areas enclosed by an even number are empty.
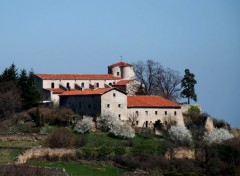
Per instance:
[[[164,68],[159,62],[147,60],[133,64],[135,77],[138,81],[137,95],[160,95],[172,101],[178,101],[181,97],[197,101],[195,93],[195,75],[189,69],[185,70],[184,77],[178,71]]]

